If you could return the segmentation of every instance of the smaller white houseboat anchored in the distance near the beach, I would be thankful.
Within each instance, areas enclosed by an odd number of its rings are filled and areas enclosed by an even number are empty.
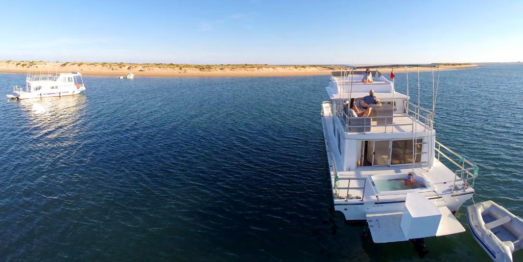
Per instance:
[[[7,98],[63,97],[79,94],[84,90],[84,81],[79,72],[42,74],[29,71],[26,77],[26,87],[14,86],[13,94],[7,94]]]

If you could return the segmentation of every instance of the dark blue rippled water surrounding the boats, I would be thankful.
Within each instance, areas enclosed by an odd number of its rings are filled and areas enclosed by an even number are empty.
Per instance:
[[[516,215],[521,73],[441,72],[436,109],[438,140],[480,166],[475,201]],[[24,81],[0,74],[0,93]],[[79,96],[0,103],[1,260],[490,260],[468,227],[427,239],[420,259],[411,243],[362,239],[362,225],[332,211],[327,76],[84,81]]]

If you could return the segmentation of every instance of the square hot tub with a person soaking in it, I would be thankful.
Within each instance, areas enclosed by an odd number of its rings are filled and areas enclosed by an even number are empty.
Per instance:
[[[414,174],[414,181],[417,182],[414,185],[405,183],[409,173],[370,175],[369,180],[370,184],[372,185],[372,189],[374,190],[374,194],[377,196],[427,192],[435,189],[423,174],[418,174],[415,172],[411,173]]]

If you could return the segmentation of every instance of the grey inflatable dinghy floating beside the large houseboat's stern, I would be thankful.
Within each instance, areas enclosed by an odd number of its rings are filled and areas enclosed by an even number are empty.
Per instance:
[[[477,243],[496,262],[512,262],[523,248],[523,221],[491,200],[467,207],[469,227]]]

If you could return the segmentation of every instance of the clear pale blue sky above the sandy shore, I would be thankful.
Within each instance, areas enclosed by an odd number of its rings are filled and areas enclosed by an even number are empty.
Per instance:
[[[523,1],[3,1],[0,59],[523,61]]]

